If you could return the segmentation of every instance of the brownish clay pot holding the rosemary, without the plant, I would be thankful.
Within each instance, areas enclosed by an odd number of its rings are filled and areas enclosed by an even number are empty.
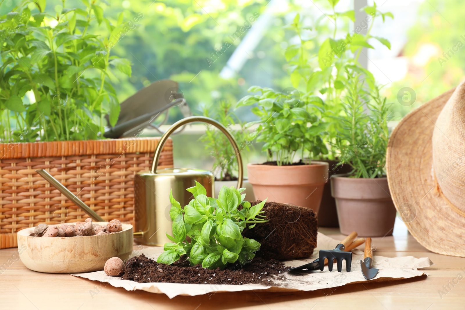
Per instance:
[[[387,178],[331,178],[332,196],[341,233],[357,231],[360,237],[392,235],[396,209],[389,193]]]

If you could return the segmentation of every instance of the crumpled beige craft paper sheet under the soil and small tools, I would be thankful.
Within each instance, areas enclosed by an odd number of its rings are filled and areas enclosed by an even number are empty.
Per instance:
[[[309,263],[318,258],[320,249],[332,250],[339,241],[318,233],[318,246],[313,252],[312,257],[302,260],[286,261],[284,264],[290,267],[297,267]],[[142,251],[146,257],[156,259],[163,251],[162,247],[146,248]],[[394,281],[425,275],[425,272],[418,269],[431,266],[433,263],[428,257],[415,258],[406,257],[382,257],[375,255],[373,257],[373,266],[379,269],[378,274],[372,280],[365,280],[360,271],[360,260],[363,260],[363,251],[353,250],[352,270],[345,272],[345,262],[343,263],[342,272],[338,272],[336,264],[332,272],[328,271],[311,271],[311,273],[284,273],[282,277],[276,277],[272,285],[262,284],[177,284],[177,283],[137,283],[130,280],[122,280],[119,277],[109,277],[104,271],[95,271],[88,273],[75,273],[73,276],[84,277],[94,281],[106,282],[114,287],[123,287],[126,290],[146,290],[152,293],[166,294],[173,298],[178,295],[202,295],[210,292],[234,292],[240,290],[321,290],[342,286],[345,284],[369,282],[369,281]],[[133,253],[134,254],[134,253]],[[139,255],[141,253],[137,253]]]

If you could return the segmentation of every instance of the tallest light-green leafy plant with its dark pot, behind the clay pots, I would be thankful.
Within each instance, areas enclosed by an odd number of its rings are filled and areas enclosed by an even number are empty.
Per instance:
[[[334,121],[334,117],[344,113],[341,98],[347,93],[345,70],[356,68],[367,76],[371,75],[358,65],[362,48],[373,48],[371,40],[378,40],[387,48],[391,47],[388,40],[370,34],[374,20],[382,19],[384,22],[386,18],[392,18],[391,13],[380,12],[376,3],[364,7],[363,10],[367,13],[365,19],[360,20],[353,30],[349,31],[349,24],[355,22],[355,12],[336,11],[335,6],[338,2],[328,0],[327,5],[330,9],[325,10],[311,24],[298,13],[292,23],[286,26],[295,33],[285,52],[292,86],[307,96],[316,95],[324,99],[321,118],[328,125],[321,137],[328,152],[315,155],[313,160],[329,164],[330,178],[334,174],[351,170],[348,165],[339,164],[340,152],[334,144],[339,130],[339,123]],[[366,34],[362,34],[363,30],[366,30]],[[299,40],[296,42],[295,38]],[[321,205],[318,212],[319,225],[337,227],[339,224],[330,182],[325,185]]]

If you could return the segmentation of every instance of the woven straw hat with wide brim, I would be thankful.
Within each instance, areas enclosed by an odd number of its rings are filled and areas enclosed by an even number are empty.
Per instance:
[[[402,119],[386,169],[412,236],[430,251],[465,257],[465,83]]]

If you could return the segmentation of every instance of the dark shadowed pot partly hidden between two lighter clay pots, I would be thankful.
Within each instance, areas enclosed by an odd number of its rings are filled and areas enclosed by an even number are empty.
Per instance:
[[[329,164],[329,178],[335,174],[349,173],[352,171],[350,165],[337,166],[338,160],[321,160]],[[331,182],[326,182],[323,189],[323,198],[318,212],[319,227],[339,227],[338,212],[336,211],[336,201],[331,195]]]

